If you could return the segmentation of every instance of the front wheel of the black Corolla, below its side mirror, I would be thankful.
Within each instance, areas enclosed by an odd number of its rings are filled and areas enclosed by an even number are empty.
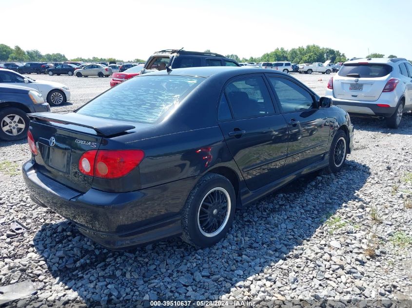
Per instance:
[[[332,140],[329,149],[329,166],[326,167],[328,173],[336,173],[342,169],[348,153],[348,137],[345,132],[339,129]]]

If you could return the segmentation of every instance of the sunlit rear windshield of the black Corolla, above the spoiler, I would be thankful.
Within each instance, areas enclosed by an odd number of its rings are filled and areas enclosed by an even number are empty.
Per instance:
[[[103,119],[155,123],[204,79],[142,75],[104,92],[78,109],[77,113]]]

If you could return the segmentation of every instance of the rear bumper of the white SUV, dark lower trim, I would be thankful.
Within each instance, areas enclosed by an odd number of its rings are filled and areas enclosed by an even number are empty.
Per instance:
[[[347,101],[336,99],[331,97],[333,100],[334,106],[339,106],[342,109],[345,109],[349,114],[353,116],[362,116],[362,117],[384,117],[388,118],[392,116],[395,112],[396,107],[379,107],[377,104],[393,104],[392,102],[359,102],[359,101]]]

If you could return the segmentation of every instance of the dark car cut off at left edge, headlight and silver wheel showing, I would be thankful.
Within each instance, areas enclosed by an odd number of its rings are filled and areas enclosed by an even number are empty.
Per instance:
[[[0,72],[0,80],[2,72]],[[0,139],[15,141],[26,138],[29,112],[50,111],[41,94],[18,85],[0,84]]]

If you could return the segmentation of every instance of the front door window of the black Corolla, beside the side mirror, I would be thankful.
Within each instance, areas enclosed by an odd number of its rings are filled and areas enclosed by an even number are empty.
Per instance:
[[[269,77],[269,80],[279,98],[283,112],[313,108],[314,99],[305,89],[288,79]]]

